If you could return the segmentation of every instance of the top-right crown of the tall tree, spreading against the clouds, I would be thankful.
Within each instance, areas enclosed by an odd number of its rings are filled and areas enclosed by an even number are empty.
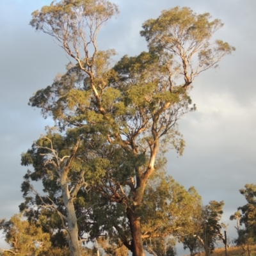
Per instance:
[[[209,13],[197,14],[188,7],[175,7],[164,10],[157,19],[147,20],[141,35],[145,36],[150,51],[172,54],[183,68],[188,86],[200,72],[218,67],[223,56],[235,51],[227,42],[210,41],[213,33],[222,26],[221,20],[211,20]]]

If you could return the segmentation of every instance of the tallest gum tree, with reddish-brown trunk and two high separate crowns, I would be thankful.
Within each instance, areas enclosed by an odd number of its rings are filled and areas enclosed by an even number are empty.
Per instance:
[[[44,115],[52,115],[62,131],[67,126],[97,126],[105,143],[129,157],[129,168],[113,168],[125,173],[122,179],[114,179],[111,170],[95,190],[125,206],[131,241],[124,239],[124,244],[132,255],[143,256],[140,221],[147,181],[168,148],[182,154],[184,141],[176,123],[195,109],[188,95],[190,84],[235,49],[221,40],[211,42],[223,26],[220,20],[176,7],[143,24],[141,35],[149,52],[124,56],[111,68],[115,52],[98,51],[97,35],[115,13],[115,4],[104,0],[62,0],[32,14],[31,26],[51,35],[77,65],[68,66],[66,74],[30,102]]]

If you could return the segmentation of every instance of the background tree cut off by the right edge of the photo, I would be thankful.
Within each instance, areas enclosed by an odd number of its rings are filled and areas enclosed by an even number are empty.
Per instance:
[[[237,220],[237,235],[234,243],[241,246],[244,251],[248,251],[249,246],[256,243],[256,185],[246,184],[245,188],[239,189],[244,195],[247,204],[237,208],[237,212],[230,216],[230,220]]]

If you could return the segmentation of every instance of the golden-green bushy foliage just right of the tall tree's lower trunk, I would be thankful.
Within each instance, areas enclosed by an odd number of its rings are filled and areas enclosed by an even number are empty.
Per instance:
[[[195,188],[188,191],[164,172],[148,180],[141,209],[143,237],[182,237],[191,232],[195,212],[201,209]]]

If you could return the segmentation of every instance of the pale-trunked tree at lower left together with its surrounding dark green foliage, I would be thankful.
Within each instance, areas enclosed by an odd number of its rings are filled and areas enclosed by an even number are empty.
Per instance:
[[[80,195],[86,193],[88,183],[84,178],[86,170],[90,168],[89,161],[84,164],[77,159],[83,154],[78,150],[80,145],[79,139],[68,140],[66,138],[64,140],[60,134],[49,131],[47,137],[39,138],[26,154],[22,154],[22,164],[31,165],[34,170],[33,172],[28,170],[24,176],[22,191],[26,201],[20,205],[20,210],[26,209],[25,215],[28,216],[31,223],[35,220],[38,223],[48,222],[52,218],[56,219],[57,215],[60,221],[57,220],[54,223],[54,220],[51,220],[48,227],[46,223],[43,227],[51,233],[57,230],[62,237],[62,230],[65,230],[68,234],[71,255],[81,255],[80,243],[85,238],[81,232],[79,233],[77,223],[81,219],[84,220],[90,211],[90,205],[86,211],[77,211],[76,207],[76,204],[83,205],[83,200],[82,202],[79,200],[79,193]],[[31,180],[39,179],[43,182],[46,195],[40,195],[31,185]],[[30,192],[35,194],[35,198],[31,198]],[[34,209],[36,210],[34,211]],[[40,209],[47,209],[48,212],[51,212],[48,216],[44,214],[47,220],[42,218],[44,211]]]

